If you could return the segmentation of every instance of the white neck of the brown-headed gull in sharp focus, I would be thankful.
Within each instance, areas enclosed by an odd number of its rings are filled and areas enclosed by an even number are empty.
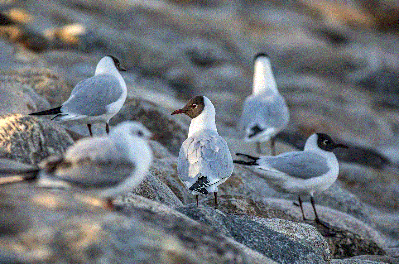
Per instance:
[[[214,132],[216,135],[219,135],[217,133],[216,123],[215,123],[215,117],[216,117],[215,107],[213,106],[213,104],[209,99],[207,99],[206,97],[203,97],[203,99],[205,107],[203,108],[201,114],[199,114],[196,118],[192,118],[190,128],[188,130],[189,138],[194,134],[197,134],[198,132],[201,132],[203,130],[210,130]]]

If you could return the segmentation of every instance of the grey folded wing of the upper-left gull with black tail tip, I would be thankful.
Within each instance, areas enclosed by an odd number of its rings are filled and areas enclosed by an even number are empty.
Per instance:
[[[117,101],[123,90],[112,75],[95,75],[78,83],[71,96],[61,106],[61,112],[98,116],[106,113],[106,106]]]

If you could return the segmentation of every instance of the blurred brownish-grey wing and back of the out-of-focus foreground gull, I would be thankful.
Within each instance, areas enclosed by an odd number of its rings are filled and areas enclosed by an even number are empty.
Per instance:
[[[111,187],[124,181],[136,167],[124,154],[125,146],[107,138],[92,144],[83,141],[68,151],[54,176],[81,187]]]

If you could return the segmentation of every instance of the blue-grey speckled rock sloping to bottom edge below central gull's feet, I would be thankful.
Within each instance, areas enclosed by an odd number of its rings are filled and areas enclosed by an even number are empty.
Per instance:
[[[201,223],[210,225],[217,232],[243,243],[281,264],[326,263],[319,252],[265,227],[255,221],[222,213],[211,207],[187,205],[177,211]]]

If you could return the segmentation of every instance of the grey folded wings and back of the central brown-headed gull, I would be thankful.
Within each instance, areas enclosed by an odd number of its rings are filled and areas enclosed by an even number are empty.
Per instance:
[[[229,177],[233,159],[226,141],[219,135],[188,138],[180,148],[178,171],[182,181],[192,183],[199,174],[210,182]]]

